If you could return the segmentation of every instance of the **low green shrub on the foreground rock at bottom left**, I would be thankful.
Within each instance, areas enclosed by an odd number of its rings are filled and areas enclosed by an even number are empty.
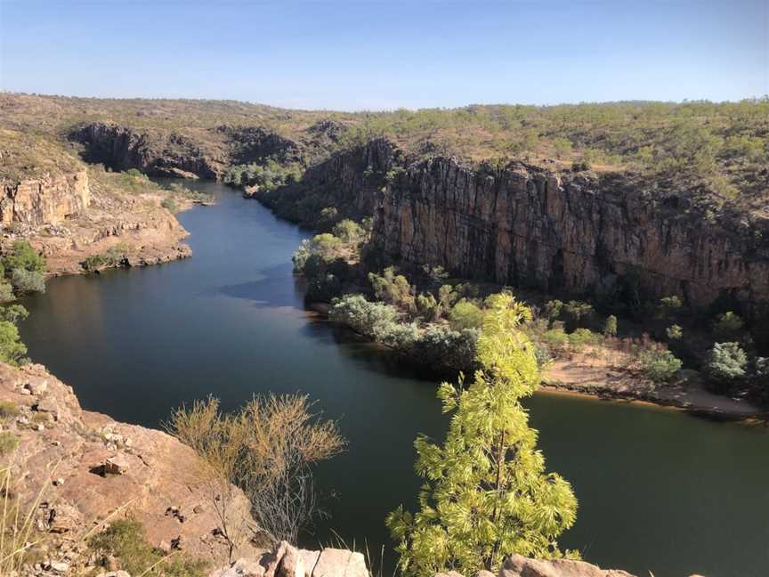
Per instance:
[[[101,557],[116,557],[120,567],[132,574],[142,575],[154,567],[152,574],[163,577],[205,577],[206,562],[183,555],[168,556],[155,549],[147,540],[143,525],[135,519],[119,519],[89,540],[89,545]]]

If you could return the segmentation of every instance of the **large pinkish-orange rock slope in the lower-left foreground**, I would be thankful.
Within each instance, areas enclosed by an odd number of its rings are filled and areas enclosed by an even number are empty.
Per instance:
[[[49,565],[67,562],[72,574],[81,574],[76,569],[82,571],[88,555],[77,548],[100,524],[122,516],[141,521],[156,547],[183,543],[185,554],[214,566],[226,561],[221,520],[189,447],[81,409],[71,387],[41,365],[0,363],[0,401],[4,435],[18,439],[18,448],[0,457],[0,469],[10,467],[13,495],[24,515],[31,509],[36,534],[45,536],[41,554]],[[231,520],[253,523],[242,493],[229,506]]]

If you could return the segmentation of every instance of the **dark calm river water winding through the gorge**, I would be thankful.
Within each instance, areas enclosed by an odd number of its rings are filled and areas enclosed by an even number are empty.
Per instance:
[[[191,259],[52,280],[24,304],[29,354],[87,409],[157,427],[213,393],[224,408],[260,391],[304,391],[340,419],[349,451],[320,470],[348,544],[378,550],[383,519],[413,506],[412,441],[446,426],[434,383],[303,310],[290,256],[308,233],[214,183],[215,207],[180,220]],[[548,466],[580,508],[564,547],[656,577],[763,577],[769,566],[769,432],[670,410],[539,395],[528,403]],[[385,561],[392,561],[392,553]]]

